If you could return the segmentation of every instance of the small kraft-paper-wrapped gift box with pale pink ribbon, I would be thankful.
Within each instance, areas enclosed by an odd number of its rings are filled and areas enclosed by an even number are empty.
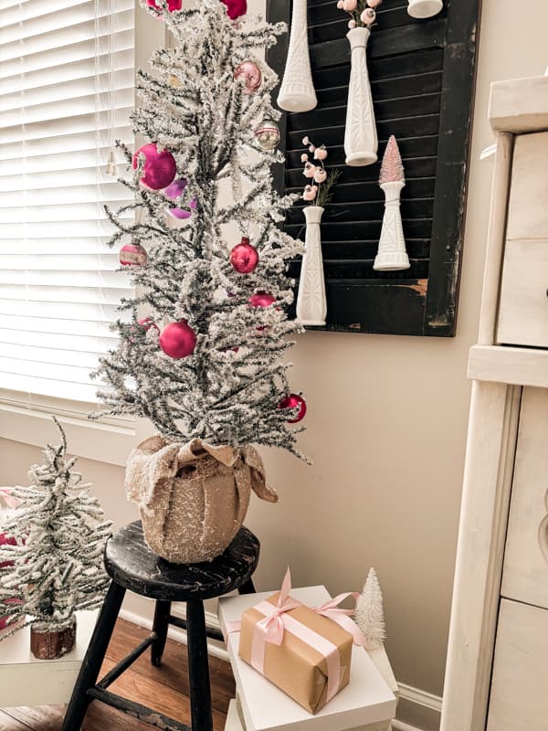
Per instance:
[[[350,680],[353,635],[281,591],[241,618],[240,657],[311,714]]]

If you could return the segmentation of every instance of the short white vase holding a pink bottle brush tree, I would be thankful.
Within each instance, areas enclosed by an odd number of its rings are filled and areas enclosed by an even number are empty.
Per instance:
[[[373,268],[377,271],[397,271],[409,269],[409,257],[406,252],[406,239],[400,213],[400,194],[404,183],[383,183],[385,191],[385,215],[379,249],[374,259]]]

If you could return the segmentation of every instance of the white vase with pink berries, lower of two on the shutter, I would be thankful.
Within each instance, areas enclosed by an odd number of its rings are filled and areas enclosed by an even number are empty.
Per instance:
[[[300,268],[297,317],[303,325],[324,325],[327,314],[320,223],[323,208],[305,206],[306,236]]]

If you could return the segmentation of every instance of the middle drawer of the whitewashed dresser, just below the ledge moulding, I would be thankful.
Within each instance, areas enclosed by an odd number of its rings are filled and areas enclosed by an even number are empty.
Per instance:
[[[545,609],[548,609],[547,500],[548,390],[524,388],[501,594]]]

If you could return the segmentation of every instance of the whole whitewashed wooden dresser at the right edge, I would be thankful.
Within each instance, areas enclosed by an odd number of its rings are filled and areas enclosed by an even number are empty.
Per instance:
[[[548,78],[493,84],[497,155],[442,731],[548,731]]]

